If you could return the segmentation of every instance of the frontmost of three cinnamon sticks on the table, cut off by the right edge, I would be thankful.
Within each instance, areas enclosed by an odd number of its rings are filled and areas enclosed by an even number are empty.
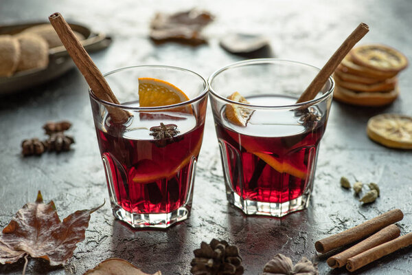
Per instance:
[[[400,248],[405,248],[409,245],[412,245],[412,233],[400,236],[392,241],[387,243],[382,243],[381,245],[371,248],[361,254],[353,256],[350,259],[347,259],[346,269],[350,272],[354,272],[359,268],[376,261],[387,254],[391,254]]]

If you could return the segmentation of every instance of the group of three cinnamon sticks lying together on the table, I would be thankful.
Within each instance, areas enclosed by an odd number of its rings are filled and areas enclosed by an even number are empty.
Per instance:
[[[330,267],[336,268],[346,265],[347,270],[354,272],[368,263],[382,258],[382,256],[412,245],[412,233],[400,236],[398,226],[393,224],[402,219],[402,211],[394,209],[354,228],[321,239],[314,244],[314,247],[317,252],[325,253],[369,236],[327,260]]]

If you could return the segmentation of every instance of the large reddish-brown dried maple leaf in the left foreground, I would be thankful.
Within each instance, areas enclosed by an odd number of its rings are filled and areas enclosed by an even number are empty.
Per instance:
[[[104,204],[104,203],[103,203]],[[27,203],[0,234],[0,263],[15,263],[25,255],[43,258],[50,265],[63,265],[73,256],[76,244],[84,240],[90,214],[103,206],[78,210],[60,221],[54,202]]]

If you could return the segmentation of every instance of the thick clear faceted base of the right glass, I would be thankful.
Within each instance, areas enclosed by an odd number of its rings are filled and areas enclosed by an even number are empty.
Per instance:
[[[242,199],[236,192],[227,193],[227,200],[240,208],[244,214],[260,214],[272,217],[284,217],[292,212],[304,210],[308,207],[309,199],[310,195],[301,195],[284,203],[269,203]]]

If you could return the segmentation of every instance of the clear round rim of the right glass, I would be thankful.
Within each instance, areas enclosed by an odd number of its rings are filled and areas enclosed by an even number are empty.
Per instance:
[[[290,63],[290,64],[295,64],[295,65],[304,65],[306,67],[311,67],[313,69],[317,69],[319,72],[321,69],[318,67],[315,67],[313,65],[309,65],[307,63],[299,62],[299,61],[290,61],[287,59],[279,59],[279,58],[254,58],[254,59],[248,59],[246,61],[238,61],[235,63],[231,63],[229,65],[226,65],[225,67],[221,67],[220,69],[217,69],[215,72],[213,72],[208,78],[207,78],[207,84],[209,85],[209,91],[212,96],[216,96],[216,98],[219,98],[220,100],[223,100],[229,104],[237,104],[243,107],[249,107],[249,108],[255,108],[255,109],[295,109],[297,107],[307,107],[307,106],[312,106],[314,104],[317,104],[325,98],[328,98],[334,91],[334,79],[332,76],[329,76],[328,80],[330,81],[331,85],[328,91],[325,92],[322,96],[319,96],[319,98],[314,98],[312,100],[300,102],[300,103],[295,103],[295,104],[287,104],[287,105],[258,105],[258,104],[247,104],[247,103],[242,103],[242,102],[237,102],[233,100],[229,100],[228,98],[225,98],[223,96],[220,96],[216,91],[214,91],[211,82],[218,76],[220,73],[225,72],[228,69],[236,68],[236,67],[242,67],[244,65],[258,65],[258,64],[271,64],[271,63]]]

